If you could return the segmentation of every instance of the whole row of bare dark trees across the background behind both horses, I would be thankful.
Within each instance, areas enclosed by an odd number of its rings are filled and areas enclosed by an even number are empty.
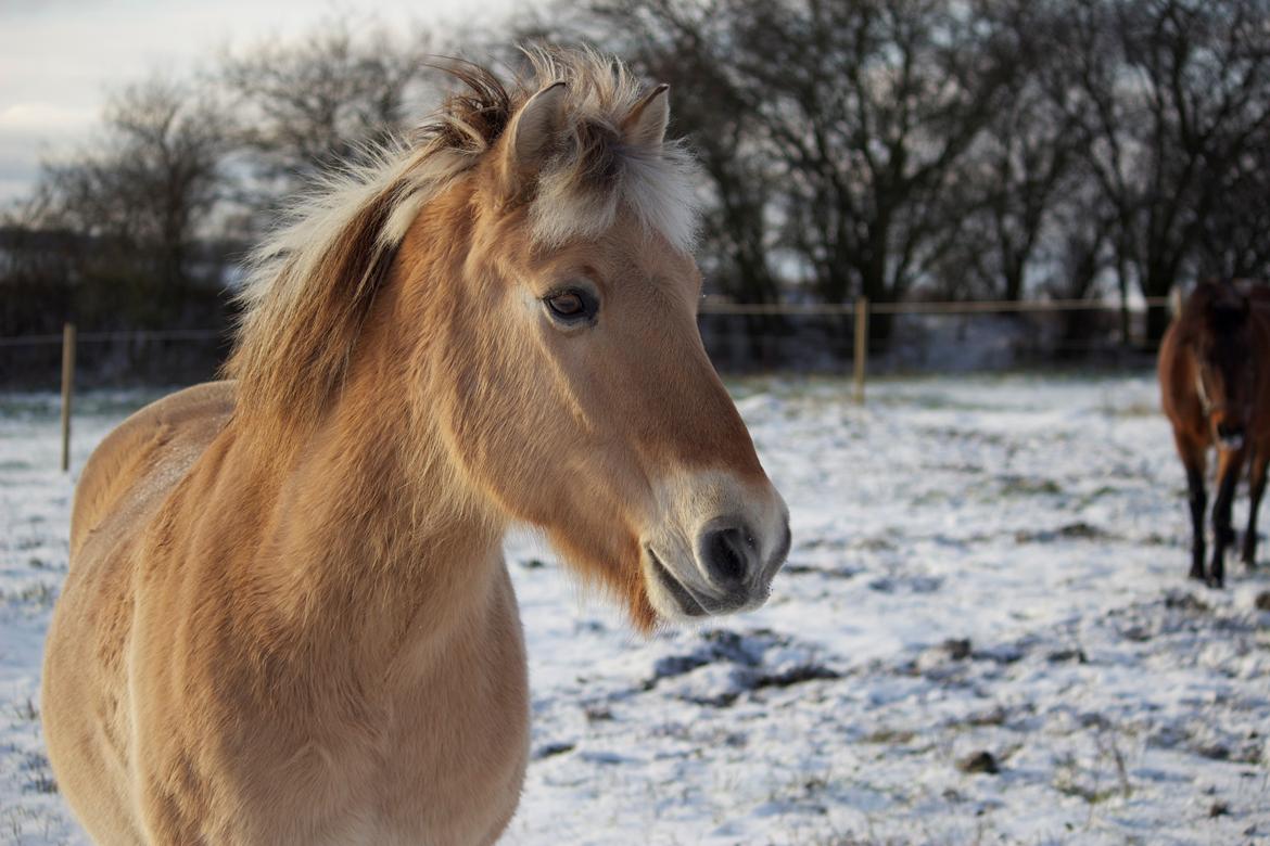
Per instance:
[[[585,0],[464,43],[337,20],[118,93],[0,232],[0,334],[215,325],[279,199],[450,88],[437,53],[526,39],[671,82],[739,302],[1270,275],[1270,0]]]

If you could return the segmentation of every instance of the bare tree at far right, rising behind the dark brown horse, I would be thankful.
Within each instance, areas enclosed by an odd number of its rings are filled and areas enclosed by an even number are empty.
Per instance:
[[[1195,257],[1226,176],[1270,122],[1265,0],[1069,0],[1053,88],[1116,212],[1121,296],[1163,297]],[[1148,341],[1167,326],[1148,309]]]

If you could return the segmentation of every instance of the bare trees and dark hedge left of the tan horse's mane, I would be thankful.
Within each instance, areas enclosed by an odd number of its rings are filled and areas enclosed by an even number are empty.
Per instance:
[[[0,228],[0,335],[218,327],[282,198],[418,117],[427,38],[335,19],[116,93],[83,150],[44,165]]]

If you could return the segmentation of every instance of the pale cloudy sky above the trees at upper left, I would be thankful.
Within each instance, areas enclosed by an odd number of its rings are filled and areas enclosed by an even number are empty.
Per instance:
[[[222,48],[298,38],[335,14],[415,32],[484,27],[517,0],[0,0],[0,208],[75,151],[113,90],[182,76]]]

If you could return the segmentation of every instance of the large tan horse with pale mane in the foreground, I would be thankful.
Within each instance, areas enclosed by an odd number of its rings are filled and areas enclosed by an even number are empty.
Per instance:
[[[528,738],[502,558],[538,526],[635,625],[752,609],[785,506],[706,358],[665,86],[461,67],[267,244],[232,381],[93,454],[48,753],[109,843],[479,843]]]

